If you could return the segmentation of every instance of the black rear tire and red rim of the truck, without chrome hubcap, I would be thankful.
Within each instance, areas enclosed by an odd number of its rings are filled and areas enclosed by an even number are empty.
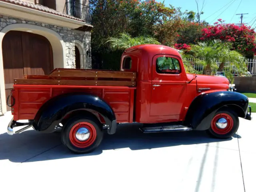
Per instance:
[[[88,139],[88,141],[90,141],[89,146],[86,146],[86,144],[81,144],[82,146],[78,147],[78,145],[80,145],[79,143],[77,143],[78,139],[77,138],[74,139],[74,137],[72,137],[74,130],[77,129],[76,125],[79,124],[80,126],[80,123],[81,124],[88,123],[94,127],[94,128],[90,128],[90,129],[93,129],[93,131],[90,132],[90,137]],[[70,134],[72,135],[71,137],[70,137]],[[77,154],[85,154],[85,153],[90,153],[94,151],[102,142],[103,135],[104,133],[102,131],[102,125],[100,124],[97,118],[94,118],[92,116],[72,117],[66,122],[66,124],[63,126],[61,130],[62,143],[69,150]],[[88,141],[86,140],[84,142],[88,142]],[[86,146],[86,147],[83,147],[83,146]]]

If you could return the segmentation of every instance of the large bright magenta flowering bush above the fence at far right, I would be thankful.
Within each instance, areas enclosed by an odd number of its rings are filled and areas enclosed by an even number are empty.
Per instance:
[[[232,42],[234,50],[237,50],[248,57],[256,54],[255,32],[250,26],[244,24],[224,24],[222,19],[218,19],[214,26],[208,26],[202,29],[200,40],[220,39],[222,41]]]

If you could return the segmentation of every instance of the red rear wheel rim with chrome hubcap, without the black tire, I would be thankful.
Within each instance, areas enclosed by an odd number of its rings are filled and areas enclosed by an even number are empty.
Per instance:
[[[86,148],[94,143],[97,132],[95,127],[88,122],[80,122],[75,124],[70,132],[70,142],[78,148]]]

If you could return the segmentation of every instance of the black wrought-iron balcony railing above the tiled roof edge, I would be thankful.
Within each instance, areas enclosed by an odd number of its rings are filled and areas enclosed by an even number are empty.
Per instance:
[[[89,6],[75,1],[66,2],[63,13],[80,18],[87,24],[92,22]]]

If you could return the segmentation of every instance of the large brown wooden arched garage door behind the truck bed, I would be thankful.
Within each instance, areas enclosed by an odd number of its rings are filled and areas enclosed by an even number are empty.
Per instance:
[[[2,41],[6,98],[13,88],[13,79],[23,75],[44,75],[53,70],[52,46],[38,34],[8,32]],[[7,110],[10,107],[7,106]]]

